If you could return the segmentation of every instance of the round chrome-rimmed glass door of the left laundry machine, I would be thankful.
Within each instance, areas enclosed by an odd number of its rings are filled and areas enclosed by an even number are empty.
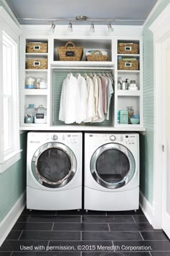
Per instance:
[[[73,179],[75,173],[76,157],[63,143],[46,143],[32,158],[32,174],[45,187],[62,187]]]

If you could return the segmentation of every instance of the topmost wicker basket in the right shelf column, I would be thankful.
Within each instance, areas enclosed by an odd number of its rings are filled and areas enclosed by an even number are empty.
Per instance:
[[[118,54],[138,54],[138,43],[118,43]]]

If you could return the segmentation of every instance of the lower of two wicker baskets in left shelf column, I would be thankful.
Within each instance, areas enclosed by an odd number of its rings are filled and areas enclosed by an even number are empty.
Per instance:
[[[48,59],[27,59],[27,69],[48,69]]]

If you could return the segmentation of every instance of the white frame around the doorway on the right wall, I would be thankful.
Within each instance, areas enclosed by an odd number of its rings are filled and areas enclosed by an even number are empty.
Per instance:
[[[170,4],[159,14],[149,29],[153,33],[153,68],[154,68],[154,134],[153,134],[153,227],[162,228],[162,189],[164,170],[164,103],[166,98],[166,68],[164,53],[165,43],[170,39]]]

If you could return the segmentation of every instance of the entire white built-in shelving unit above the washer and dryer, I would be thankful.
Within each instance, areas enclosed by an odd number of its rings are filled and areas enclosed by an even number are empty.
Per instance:
[[[30,30],[29,30],[30,33]],[[64,46],[68,40],[73,41],[76,46],[84,47],[84,55],[81,61],[59,61],[58,59],[58,46]],[[117,54],[117,43],[120,40],[137,41],[139,43],[139,54],[133,54],[138,58],[140,63],[140,70],[117,70],[117,57],[118,56],[130,56],[130,54]],[[48,43],[48,53],[27,53],[26,43],[29,41],[45,41]],[[89,49],[98,48],[101,51],[107,51],[109,54],[108,61],[86,61],[85,53]],[[145,131],[143,127],[143,81],[142,81],[142,41],[141,38],[136,38],[130,35],[125,38],[118,37],[84,37],[74,36],[68,38],[68,36],[58,35],[35,35],[30,33],[28,35],[22,35],[21,38],[21,93],[20,93],[20,129],[22,130],[75,130],[75,131]],[[26,69],[26,61],[28,58],[48,58],[48,69]],[[54,91],[53,91],[53,72],[60,72],[65,70],[71,72],[75,70],[89,71],[104,71],[109,70],[115,76],[115,88],[112,95],[113,104],[110,109],[112,121],[109,124],[95,126],[89,124],[81,125],[56,125],[53,123],[53,103],[54,103]],[[25,78],[26,77],[43,77],[47,80],[47,89],[26,89]],[[117,90],[117,78],[122,77],[122,80],[129,79],[135,80],[138,84],[138,90]],[[29,104],[35,104],[35,106],[43,105],[47,108],[47,124],[26,124],[24,123],[25,108]],[[140,115],[140,124],[117,124],[117,110],[125,109],[127,106],[133,106],[135,114]]]

